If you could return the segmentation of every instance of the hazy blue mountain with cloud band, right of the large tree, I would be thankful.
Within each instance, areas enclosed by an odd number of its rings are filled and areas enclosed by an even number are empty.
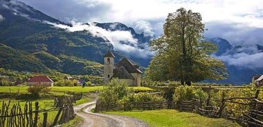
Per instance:
[[[232,46],[226,39],[219,37],[206,40],[218,45],[218,51],[212,56],[225,63],[229,76],[226,80],[205,82],[242,85],[251,83],[253,75],[263,74],[262,59],[260,59],[263,46]]]

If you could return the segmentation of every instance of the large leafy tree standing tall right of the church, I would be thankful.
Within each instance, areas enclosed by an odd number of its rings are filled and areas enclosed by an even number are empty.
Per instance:
[[[145,72],[147,78],[175,79],[189,86],[192,81],[226,79],[224,63],[210,56],[217,46],[203,41],[201,20],[201,14],[184,8],[168,14],[164,34],[149,43],[156,55]]]

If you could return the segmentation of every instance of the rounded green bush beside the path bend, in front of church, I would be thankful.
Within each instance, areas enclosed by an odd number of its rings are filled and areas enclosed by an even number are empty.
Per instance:
[[[118,81],[117,79],[112,80],[109,86],[100,91],[98,99],[100,106],[96,106],[96,111],[132,110],[134,104],[142,104],[143,102],[149,101],[165,101],[162,96],[150,94],[148,92],[139,92],[135,94],[134,90],[128,88],[125,82]]]

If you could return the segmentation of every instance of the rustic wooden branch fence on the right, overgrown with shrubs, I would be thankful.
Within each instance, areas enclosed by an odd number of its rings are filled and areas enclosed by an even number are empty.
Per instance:
[[[235,120],[242,126],[263,126],[263,101],[257,99],[258,95],[259,90],[253,97],[225,98],[223,93],[221,99],[213,100],[209,95],[206,101],[199,99],[177,101],[175,107],[181,111],[195,112],[207,117]]]

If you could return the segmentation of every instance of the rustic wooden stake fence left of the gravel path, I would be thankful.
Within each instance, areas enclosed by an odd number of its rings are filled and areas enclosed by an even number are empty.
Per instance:
[[[35,107],[31,101],[27,101],[24,108],[19,103],[10,106],[10,101],[3,101],[0,107],[0,127],[35,127],[48,126],[48,112],[57,111],[53,123],[49,126],[63,124],[75,118],[73,102],[82,98],[82,94],[74,94],[73,97],[55,97],[55,108],[39,110],[39,102],[35,102]],[[33,110],[34,109],[34,110]],[[39,114],[43,113],[43,121],[39,121]],[[42,123],[42,124],[41,124]]]

